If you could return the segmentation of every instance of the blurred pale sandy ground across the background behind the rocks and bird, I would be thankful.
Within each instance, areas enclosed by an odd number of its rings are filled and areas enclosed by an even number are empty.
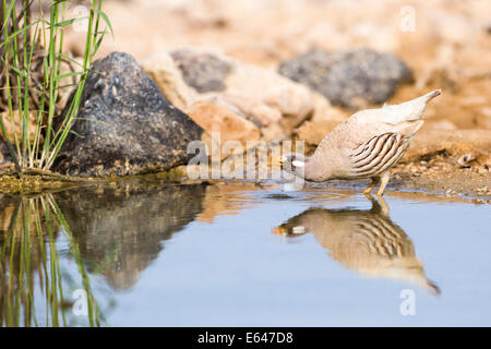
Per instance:
[[[396,53],[415,73],[416,82],[390,103],[443,88],[426,112],[431,123],[491,129],[489,1],[106,0],[104,11],[115,36],[105,39],[97,57],[121,50],[141,60],[194,46],[277,70],[312,47],[369,47]],[[68,33],[75,55],[83,37]]]

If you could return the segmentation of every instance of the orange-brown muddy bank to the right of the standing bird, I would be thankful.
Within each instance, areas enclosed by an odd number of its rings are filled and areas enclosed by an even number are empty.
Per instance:
[[[490,203],[491,132],[423,131],[393,170],[392,185]]]

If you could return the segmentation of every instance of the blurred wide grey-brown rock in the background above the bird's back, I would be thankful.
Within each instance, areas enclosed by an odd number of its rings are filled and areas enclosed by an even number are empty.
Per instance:
[[[410,69],[396,56],[370,49],[343,52],[319,48],[285,61],[279,73],[350,109],[386,101],[396,87],[412,81]]]

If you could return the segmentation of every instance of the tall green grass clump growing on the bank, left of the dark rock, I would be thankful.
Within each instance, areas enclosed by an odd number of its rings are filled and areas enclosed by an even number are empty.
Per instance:
[[[89,1],[87,15],[72,19],[67,17],[68,10],[75,1],[49,1],[49,13],[44,12],[44,4],[41,0],[0,0],[0,131],[19,174],[52,167],[71,132],[93,58],[107,34],[101,24],[112,32],[101,12],[103,0]],[[87,23],[86,37],[83,58],[75,60],[65,53],[63,37],[80,21]],[[72,82],[63,84],[67,80]],[[73,98],[61,109],[67,88],[74,89]],[[55,128],[57,118],[61,119]]]

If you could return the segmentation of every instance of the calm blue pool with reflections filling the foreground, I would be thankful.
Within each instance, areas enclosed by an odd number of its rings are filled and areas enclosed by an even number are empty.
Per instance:
[[[385,201],[388,214],[351,189],[239,182],[2,196],[0,318],[491,325],[491,207],[395,192]]]

